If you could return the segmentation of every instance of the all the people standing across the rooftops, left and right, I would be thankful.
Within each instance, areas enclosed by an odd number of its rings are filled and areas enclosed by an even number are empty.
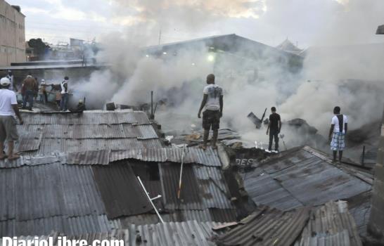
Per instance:
[[[9,75],[9,74],[8,74]],[[15,91],[13,91],[13,77],[10,75],[1,78],[0,81],[0,160],[8,157],[9,160],[17,159],[19,156],[13,153],[14,141],[18,139],[16,129],[15,117],[17,116],[20,124],[23,124],[23,118],[18,110],[18,102]],[[68,77],[65,77],[63,82],[60,83],[60,110],[67,110],[68,103]],[[53,84],[47,85],[41,82],[41,88],[46,92],[46,86],[56,86]],[[23,94],[23,108],[26,103],[30,103],[30,108],[33,105],[34,93],[37,90],[37,81],[31,74],[27,75],[24,79],[22,86]],[[46,93],[43,94],[46,100]],[[207,86],[203,89],[203,101],[198,110],[198,118],[201,118],[203,112],[203,144],[200,146],[205,150],[207,148],[208,137],[210,129],[213,131],[212,148],[217,148],[217,138],[220,127],[220,118],[223,116],[223,89],[215,84],[215,75],[207,76]],[[84,103],[79,102],[79,105],[84,110]],[[79,107],[78,105],[78,107]],[[81,111],[82,111],[81,110]],[[203,111],[204,110],[204,111]],[[347,133],[348,119],[345,115],[340,114],[340,107],[336,106],[333,110],[334,117],[331,119],[331,129],[329,131],[329,141],[331,142],[331,150],[333,150],[333,161],[336,162],[337,153],[339,152],[339,161],[343,157],[343,150],[345,148],[345,134]],[[281,117],[276,112],[276,108],[271,108],[271,115],[269,115],[269,123],[267,127],[267,135],[269,135],[269,147],[271,151],[273,141],[275,143],[274,150],[279,151],[279,134],[281,131]],[[4,150],[4,142],[8,141],[8,155],[2,151]]]

